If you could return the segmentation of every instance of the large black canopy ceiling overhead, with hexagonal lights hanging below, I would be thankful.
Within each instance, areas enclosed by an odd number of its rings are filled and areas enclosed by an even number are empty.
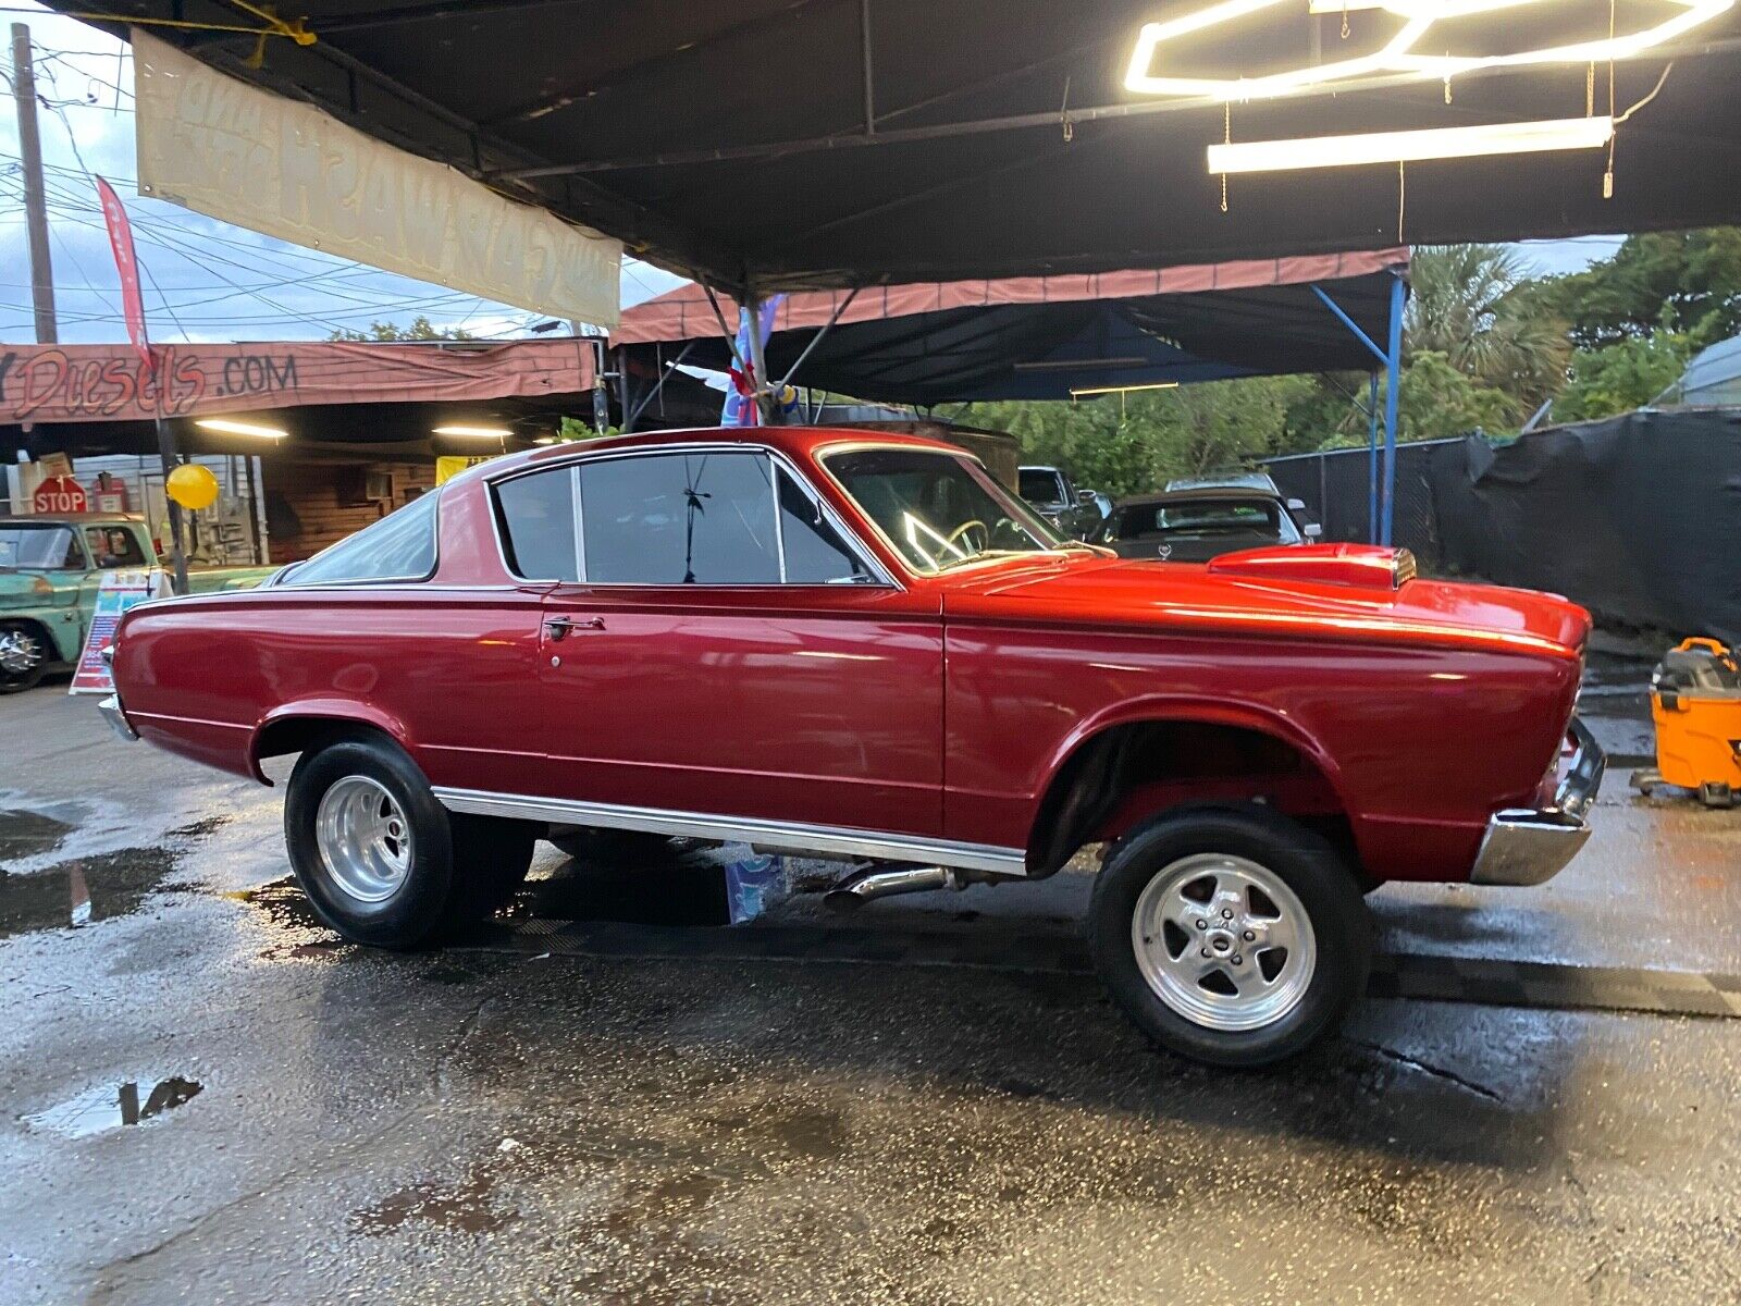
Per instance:
[[[1741,9],[1614,66],[1605,151],[1234,176],[1224,139],[1576,118],[1609,66],[1515,64],[1341,78],[1224,106],[1123,87],[1170,0],[299,0],[310,44],[232,0],[50,0],[192,26],[153,31],[249,82],[754,293],[1213,263],[1393,242],[1515,240],[1734,221]],[[1468,21],[1459,49],[1511,54],[1631,31],[1692,0],[1562,0]],[[1393,12],[1306,0],[1189,50],[1215,77],[1370,52]],[[1654,9],[1652,9],[1654,7]],[[1652,17],[1654,14],[1654,17]],[[1473,30],[1471,30],[1473,28]],[[1344,35],[1346,33],[1346,35]],[[1435,50],[1436,54],[1436,50]],[[1673,68],[1657,85],[1668,64]],[[1335,94],[1330,94],[1330,91]]]

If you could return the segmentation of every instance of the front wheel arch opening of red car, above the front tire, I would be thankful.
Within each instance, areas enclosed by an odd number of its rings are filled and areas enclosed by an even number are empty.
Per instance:
[[[1170,745],[1205,742],[1224,754],[1231,751],[1238,763],[1229,766],[1233,757],[1222,757],[1220,770],[1156,770],[1158,756],[1172,756]],[[1118,838],[1160,810],[1267,801],[1271,796],[1252,782],[1285,777],[1288,759],[1299,771],[1276,810],[1339,822],[1344,829],[1330,834],[1358,864],[1351,834],[1354,808],[1335,759],[1313,735],[1255,703],[1154,697],[1083,719],[1057,747],[1027,836],[1029,874],[1048,876],[1085,843]],[[1160,806],[1142,810],[1144,794]]]

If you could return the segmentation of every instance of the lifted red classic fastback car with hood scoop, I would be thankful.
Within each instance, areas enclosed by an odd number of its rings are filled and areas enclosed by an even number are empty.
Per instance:
[[[1121,561],[949,444],[677,432],[498,458],[263,589],[136,608],[104,712],[261,782],[301,754],[296,874],[388,947],[576,829],[891,864],[858,897],[1104,845],[1112,994],[1259,1064],[1361,993],[1363,890],[1577,852],[1588,632],[1395,549]]]

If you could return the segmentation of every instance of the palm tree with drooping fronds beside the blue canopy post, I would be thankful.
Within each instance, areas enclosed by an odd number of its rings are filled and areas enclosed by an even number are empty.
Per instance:
[[[1414,298],[1403,317],[1410,352],[1433,350],[1482,385],[1502,390],[1518,416],[1565,385],[1567,324],[1537,296],[1506,246],[1417,246]]]

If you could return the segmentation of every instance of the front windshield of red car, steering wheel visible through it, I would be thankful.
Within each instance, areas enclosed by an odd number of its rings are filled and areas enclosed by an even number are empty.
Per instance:
[[[931,449],[851,449],[829,454],[823,465],[916,571],[1064,547],[966,458]]]

